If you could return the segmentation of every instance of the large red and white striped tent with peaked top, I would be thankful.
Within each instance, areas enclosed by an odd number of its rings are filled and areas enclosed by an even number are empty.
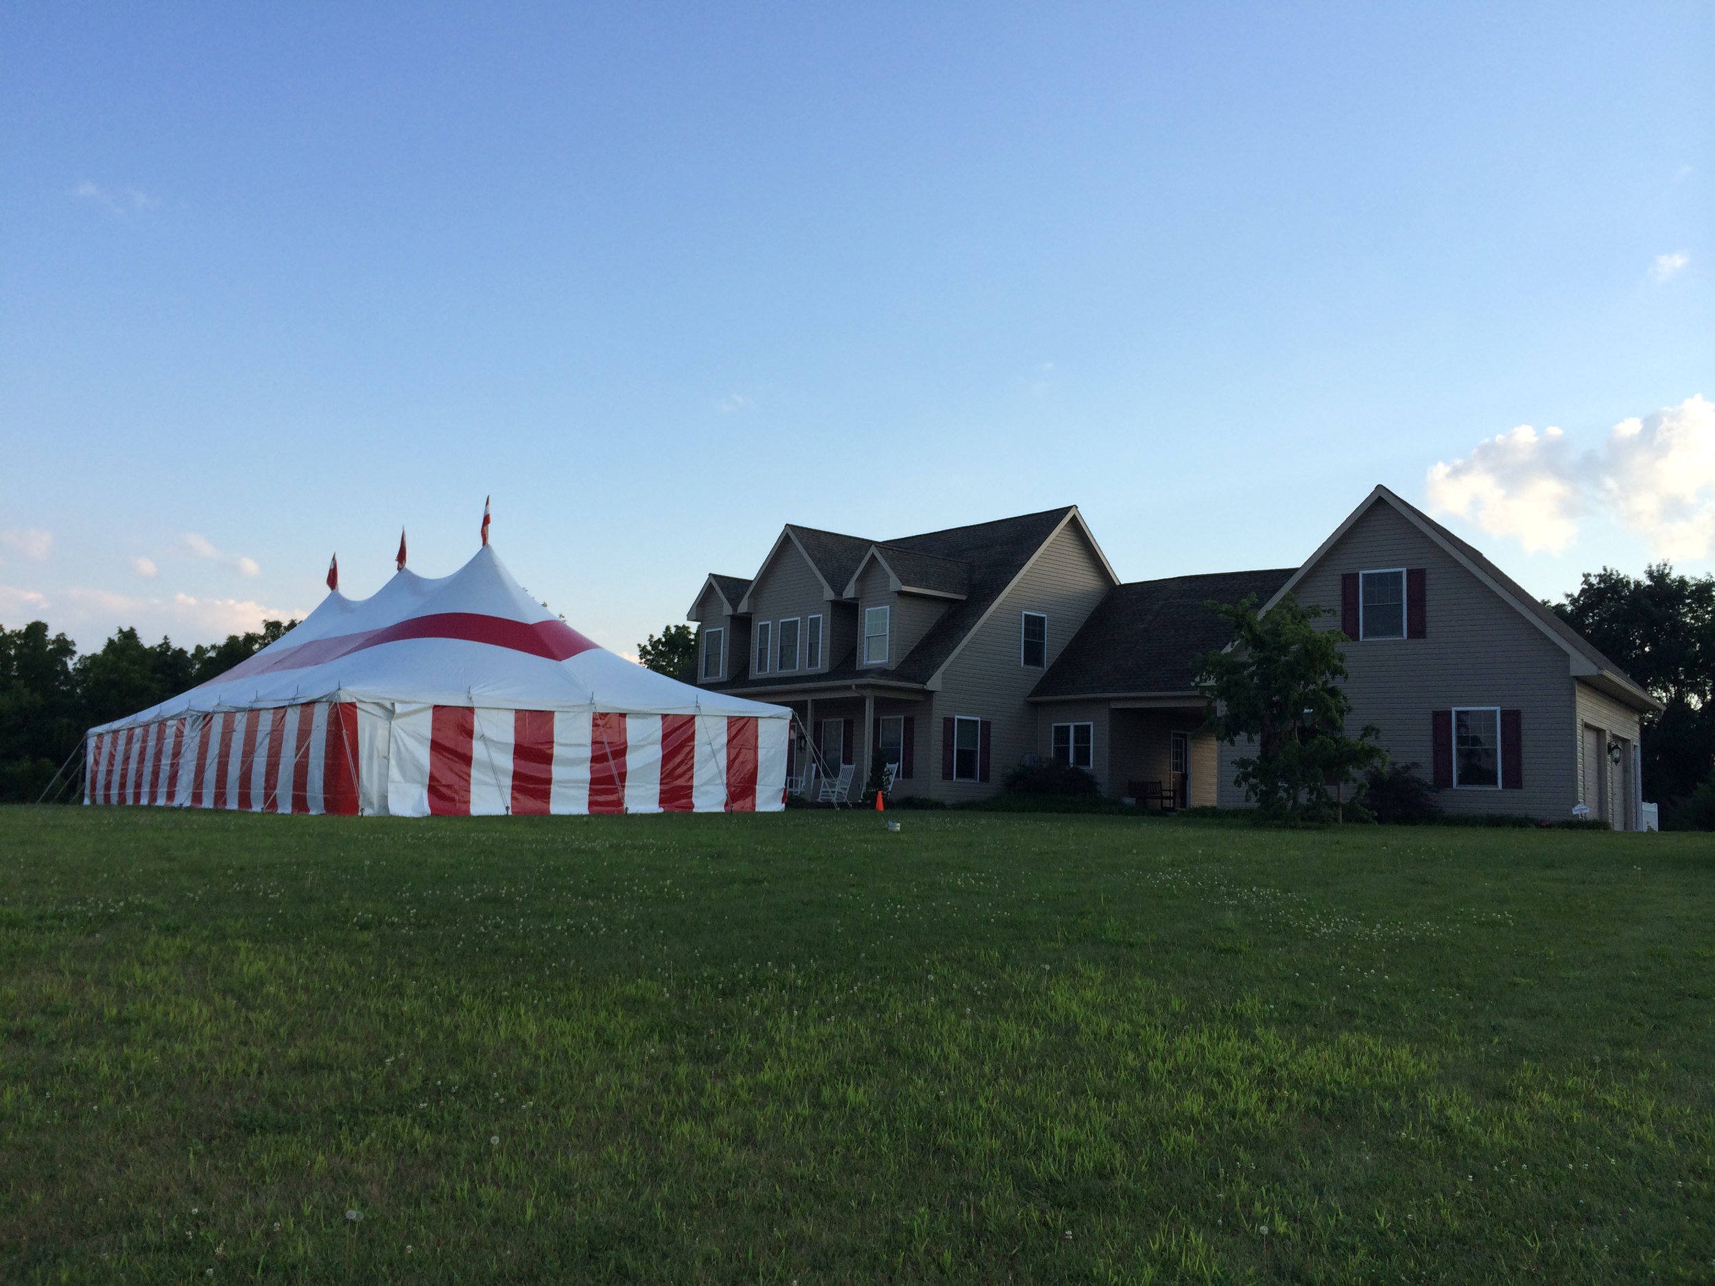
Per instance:
[[[86,804],[256,813],[777,811],[791,710],[616,657],[484,545],[338,590],[201,688],[86,736]]]

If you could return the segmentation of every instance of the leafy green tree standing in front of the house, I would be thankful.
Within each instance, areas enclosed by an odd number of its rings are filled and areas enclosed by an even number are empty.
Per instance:
[[[1350,806],[1362,814],[1362,775],[1387,753],[1374,724],[1346,736],[1351,703],[1339,684],[1339,645],[1350,640],[1314,624],[1333,612],[1290,593],[1264,616],[1255,595],[1209,607],[1233,624],[1233,646],[1197,658],[1197,686],[1214,706],[1206,727],[1230,746],[1240,737],[1255,746],[1233,760],[1245,797],[1264,816],[1293,823],[1345,820]]]

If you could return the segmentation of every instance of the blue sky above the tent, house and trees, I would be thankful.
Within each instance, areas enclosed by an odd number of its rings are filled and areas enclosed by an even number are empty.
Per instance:
[[[0,122],[0,622],[86,646],[490,492],[621,652],[784,521],[1715,566],[1708,5],[7,3]]]

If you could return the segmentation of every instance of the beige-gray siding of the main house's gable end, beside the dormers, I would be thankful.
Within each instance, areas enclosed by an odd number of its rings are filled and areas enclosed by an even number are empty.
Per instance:
[[[1056,532],[1034,562],[1000,597],[988,619],[966,640],[942,672],[935,698],[935,794],[940,799],[981,799],[1000,789],[1027,751],[1038,749],[1038,722],[1044,715],[1026,705],[1043,670],[1019,664],[1024,612],[1048,616],[1048,664],[1084,624],[1111,588],[1108,571],[1075,523]],[[993,722],[991,780],[940,780],[942,720],[972,715]]]

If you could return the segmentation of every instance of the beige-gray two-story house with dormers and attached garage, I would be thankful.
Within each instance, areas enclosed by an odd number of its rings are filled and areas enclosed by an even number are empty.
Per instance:
[[[1202,730],[1211,602],[1293,592],[1343,629],[1353,727],[1418,765],[1447,811],[1638,825],[1655,700],[1480,552],[1377,487],[1298,568],[1120,583],[1075,508],[866,540],[785,526],[751,580],[691,605],[696,681],[792,706],[794,772],[880,758],[899,794],[990,794],[1026,754],[1110,796],[1240,806]]]

